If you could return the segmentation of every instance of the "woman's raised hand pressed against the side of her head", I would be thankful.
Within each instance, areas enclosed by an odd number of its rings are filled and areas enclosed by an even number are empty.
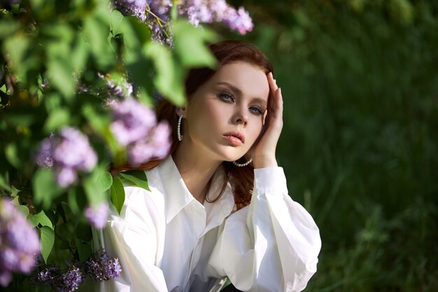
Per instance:
[[[267,116],[264,119],[262,136],[251,153],[254,168],[276,167],[275,151],[283,128],[283,97],[274,76],[267,74],[269,83],[269,99]]]

